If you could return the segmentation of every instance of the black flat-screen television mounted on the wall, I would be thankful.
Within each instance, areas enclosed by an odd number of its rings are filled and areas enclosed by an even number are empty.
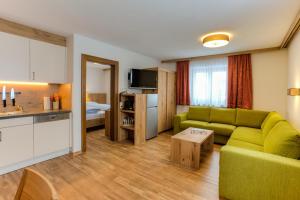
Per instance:
[[[157,71],[146,69],[131,69],[128,74],[130,88],[156,89]]]

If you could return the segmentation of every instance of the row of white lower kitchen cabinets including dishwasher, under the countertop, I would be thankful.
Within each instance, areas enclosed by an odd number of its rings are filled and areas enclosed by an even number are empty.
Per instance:
[[[70,115],[0,119],[0,175],[69,153]]]

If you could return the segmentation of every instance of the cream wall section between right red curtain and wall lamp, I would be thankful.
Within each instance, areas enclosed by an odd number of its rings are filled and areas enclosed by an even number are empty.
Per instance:
[[[287,50],[255,53],[251,59],[253,109],[287,117]]]

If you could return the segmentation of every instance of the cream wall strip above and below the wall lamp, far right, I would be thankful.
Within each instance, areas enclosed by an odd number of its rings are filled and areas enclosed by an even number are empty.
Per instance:
[[[288,48],[288,88],[300,88],[300,32]],[[288,96],[288,120],[300,129],[300,96]]]

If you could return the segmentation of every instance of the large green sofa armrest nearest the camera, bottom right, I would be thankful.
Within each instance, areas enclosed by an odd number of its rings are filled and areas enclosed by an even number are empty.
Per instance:
[[[219,194],[226,199],[300,199],[300,160],[226,145]]]

